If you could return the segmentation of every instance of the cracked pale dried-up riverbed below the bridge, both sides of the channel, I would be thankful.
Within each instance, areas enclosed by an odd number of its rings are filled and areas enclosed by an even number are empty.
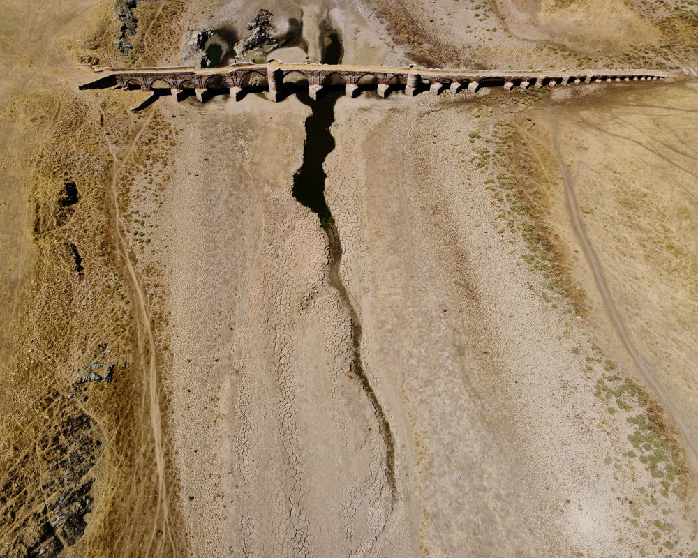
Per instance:
[[[603,91],[577,103],[594,110]],[[170,103],[186,132],[174,156],[179,179],[153,237],[172,270],[165,273],[173,354],[166,385],[192,554],[371,548],[370,555],[390,556],[396,541],[400,555],[690,552],[693,492],[680,472],[683,454],[671,446],[671,419],[654,416],[642,390],[625,382],[643,378],[617,336],[598,341],[607,319],[590,323],[588,310],[523,265],[531,246],[519,229],[530,216],[503,228],[507,204],[490,185],[512,169],[482,149],[505,142],[500,126],[533,128],[539,112],[486,93],[455,105],[447,96],[339,104],[327,196],[346,252],[342,277],[364,331],[364,368],[399,448],[391,506],[375,417],[365,409],[359,420],[366,400],[347,377],[348,324],[325,278],[327,248],[315,217],[290,197],[289,169],[300,156],[293,137],[306,109],[295,99],[276,114],[265,112],[266,100],[245,103]],[[274,131],[250,135],[258,126]],[[235,158],[229,144],[207,140],[222,130],[236,130]],[[283,146],[278,169],[259,159],[269,141]],[[570,220],[550,213],[556,219],[547,222],[567,234],[564,252],[578,254]],[[575,262],[592,303],[598,295],[586,279],[593,275],[583,259]],[[202,370],[206,381],[191,382]],[[653,437],[637,427],[642,416],[669,430]],[[256,430],[261,423],[276,427]],[[637,437],[652,447],[637,451]],[[314,457],[318,447],[336,457]],[[646,467],[644,457],[663,447],[669,457]],[[329,481],[334,463],[350,478]],[[378,490],[373,497],[369,485]],[[332,490],[336,497],[322,497]],[[273,499],[278,493],[288,504]],[[357,494],[367,500],[346,499]],[[336,536],[340,525],[346,538]]]

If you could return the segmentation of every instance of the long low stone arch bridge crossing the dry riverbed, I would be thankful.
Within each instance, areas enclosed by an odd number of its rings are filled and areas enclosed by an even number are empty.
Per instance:
[[[441,68],[396,68],[389,66],[352,66],[347,64],[283,63],[269,60],[266,64],[240,63],[221,68],[97,68],[106,75],[81,85],[80,89],[105,89],[107,87],[162,91],[170,89],[181,100],[190,95],[204,101],[216,91],[228,89],[230,95],[240,100],[246,93],[268,91],[271,98],[281,100],[293,82],[307,82],[312,98],[329,90],[344,89],[350,97],[361,91],[376,89],[381,97],[390,91],[403,89],[409,96],[428,89],[438,95],[449,89],[458,93],[467,89],[471,93],[480,87],[502,86],[527,89],[592,82],[630,82],[665,80],[669,78],[695,77],[698,68],[674,70],[448,70]],[[161,93],[160,93],[161,94]]]

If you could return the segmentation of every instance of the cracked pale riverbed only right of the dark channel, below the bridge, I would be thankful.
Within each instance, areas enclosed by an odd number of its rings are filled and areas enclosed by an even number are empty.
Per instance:
[[[609,414],[595,395],[604,368],[589,359],[618,345],[597,345],[588,322],[542,298],[540,275],[521,265],[523,239],[499,229],[502,207],[490,203],[487,185],[505,169],[468,164],[480,145],[461,123],[484,135],[493,125],[485,107],[496,104],[396,99],[386,114],[380,102],[346,102],[328,162],[365,367],[396,446],[412,446],[398,468],[409,472],[399,478],[420,547],[437,556],[652,555],[642,533],[659,518],[674,526],[671,547],[688,553],[694,516],[628,457],[625,415],[641,406]],[[503,121],[521,117],[500,110]],[[621,362],[618,374],[633,368]]]

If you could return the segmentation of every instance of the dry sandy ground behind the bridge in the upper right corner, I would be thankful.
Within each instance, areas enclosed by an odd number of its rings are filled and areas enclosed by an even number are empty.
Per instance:
[[[457,0],[456,0],[457,1]],[[391,63],[434,68],[691,65],[695,6],[679,0],[366,0],[394,38]]]

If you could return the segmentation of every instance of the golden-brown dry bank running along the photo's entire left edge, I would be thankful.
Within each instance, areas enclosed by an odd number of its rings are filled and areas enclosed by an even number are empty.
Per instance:
[[[113,5],[3,14],[0,554],[172,555],[151,312],[112,197],[140,126],[77,91]]]

